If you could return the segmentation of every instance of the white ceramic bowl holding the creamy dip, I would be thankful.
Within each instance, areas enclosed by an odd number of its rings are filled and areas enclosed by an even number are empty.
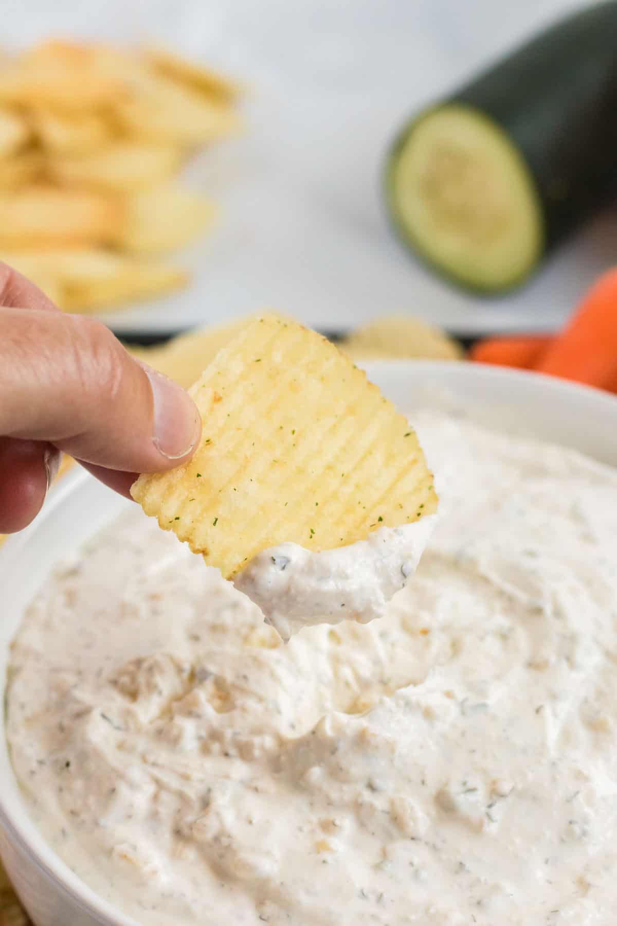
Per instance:
[[[369,376],[405,411],[460,407],[501,430],[575,447],[617,466],[617,398],[529,373],[424,361],[367,364]],[[50,493],[42,514],[0,549],[0,685],[8,646],[24,608],[57,559],[130,502],[74,470]],[[118,551],[118,556],[121,551]],[[137,926],[100,899],[44,843],[31,822],[0,720],[0,855],[37,926]]]

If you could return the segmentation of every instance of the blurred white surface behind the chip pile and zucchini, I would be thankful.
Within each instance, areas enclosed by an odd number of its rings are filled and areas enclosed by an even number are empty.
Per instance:
[[[156,40],[249,82],[239,140],[187,169],[222,204],[179,259],[191,287],[102,318],[157,331],[271,306],[344,328],[409,311],[451,331],[551,329],[615,259],[598,219],[524,290],[483,300],[432,277],[390,234],[384,153],[405,117],[571,9],[568,0],[13,0],[3,40]]]

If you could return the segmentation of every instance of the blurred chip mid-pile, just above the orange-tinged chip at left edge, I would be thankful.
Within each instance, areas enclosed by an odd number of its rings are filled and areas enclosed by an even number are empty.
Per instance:
[[[91,154],[52,156],[48,162],[53,180],[105,190],[141,190],[165,180],[179,168],[181,153],[171,144],[118,140]]]

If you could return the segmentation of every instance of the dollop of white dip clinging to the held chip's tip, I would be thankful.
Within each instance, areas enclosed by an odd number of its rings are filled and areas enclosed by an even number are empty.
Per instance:
[[[283,640],[314,624],[383,617],[390,599],[413,575],[435,515],[382,527],[336,550],[314,553],[278,544],[253,557],[234,585],[259,606]]]

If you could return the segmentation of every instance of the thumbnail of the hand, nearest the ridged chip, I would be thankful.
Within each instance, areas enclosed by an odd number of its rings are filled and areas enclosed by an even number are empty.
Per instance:
[[[144,367],[154,399],[154,446],[163,457],[185,457],[197,444],[200,420],[197,408],[176,382],[155,369]]]

